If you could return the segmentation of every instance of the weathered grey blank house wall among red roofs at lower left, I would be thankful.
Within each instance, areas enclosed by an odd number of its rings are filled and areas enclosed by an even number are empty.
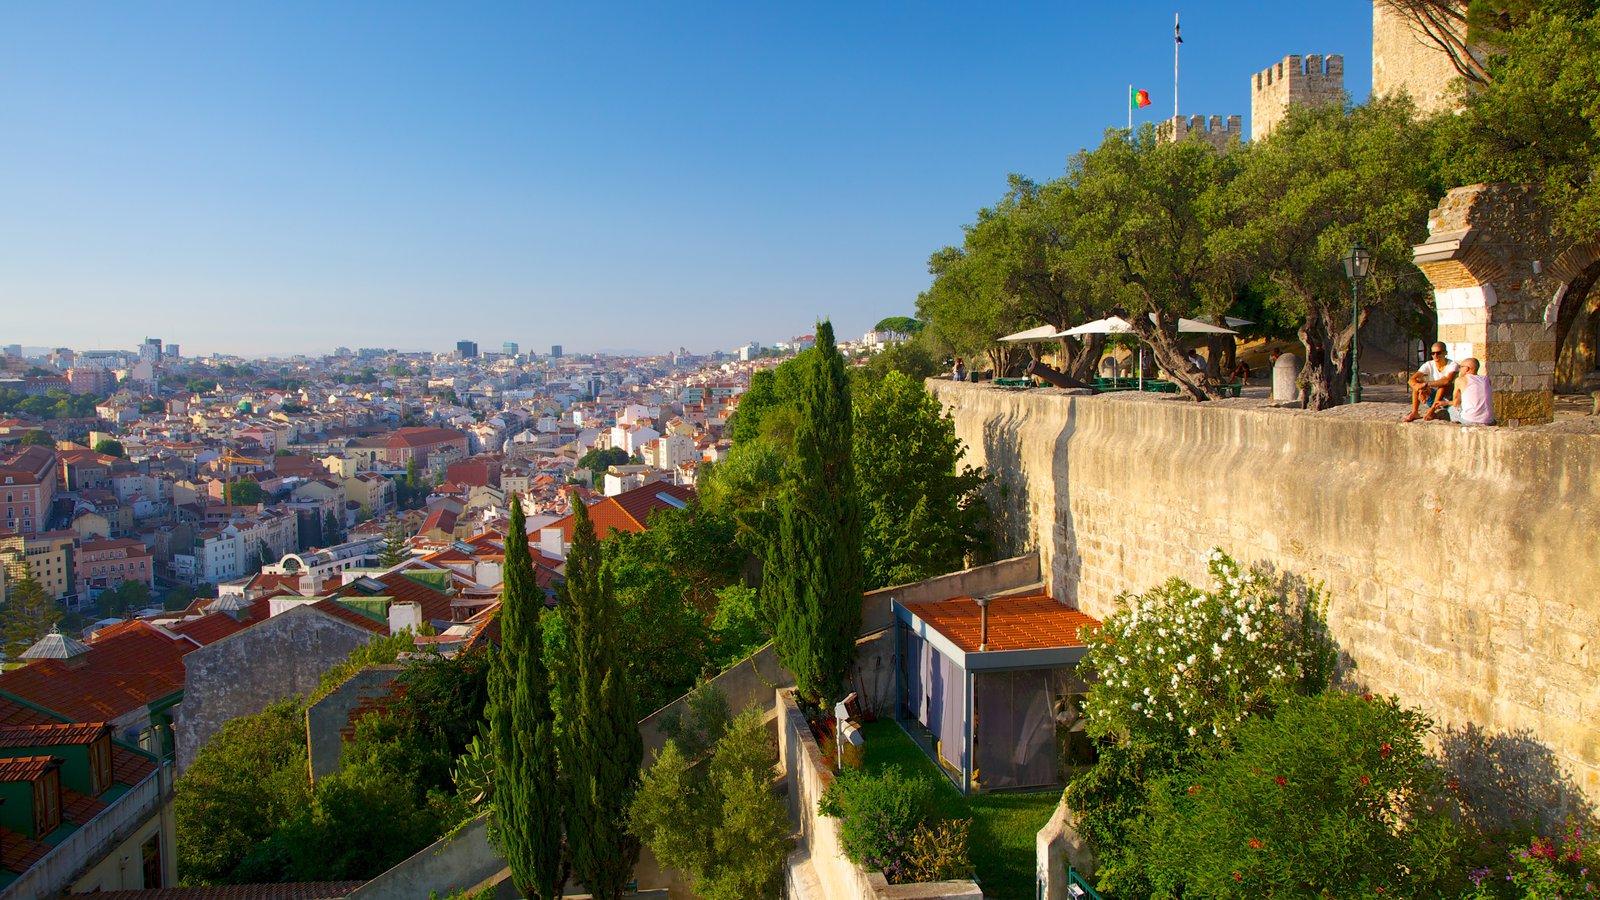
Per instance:
[[[309,693],[322,673],[371,641],[366,629],[294,607],[184,657],[184,701],[173,732],[179,773],[229,719]]]

